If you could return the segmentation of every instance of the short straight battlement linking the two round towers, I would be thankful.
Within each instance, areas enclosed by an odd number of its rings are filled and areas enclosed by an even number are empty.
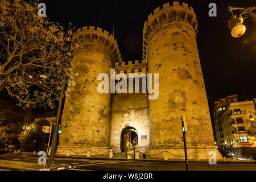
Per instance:
[[[115,70],[118,73],[147,73],[146,60],[123,61],[115,63]]]

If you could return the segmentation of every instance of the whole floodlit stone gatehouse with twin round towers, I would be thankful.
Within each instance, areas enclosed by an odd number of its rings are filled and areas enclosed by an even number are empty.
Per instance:
[[[184,155],[181,115],[187,118],[189,159],[209,159],[216,151],[199,53],[197,20],[186,3],[166,3],[150,14],[143,28],[142,60],[122,61],[117,41],[107,31],[82,27],[73,36],[72,72],[62,116],[57,153],[90,150],[103,154],[126,150],[127,134],[141,152],[163,150]],[[97,77],[117,73],[158,73],[159,97],[148,93],[98,93]],[[117,82],[115,83],[117,84]],[[85,155],[85,154],[84,154]],[[168,158],[180,158],[168,154]],[[163,153],[159,155],[163,157]]]

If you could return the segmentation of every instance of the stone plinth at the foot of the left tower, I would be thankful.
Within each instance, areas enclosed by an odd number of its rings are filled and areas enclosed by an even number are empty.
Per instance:
[[[110,147],[97,147],[97,146],[58,146],[57,154],[59,155],[109,155]]]

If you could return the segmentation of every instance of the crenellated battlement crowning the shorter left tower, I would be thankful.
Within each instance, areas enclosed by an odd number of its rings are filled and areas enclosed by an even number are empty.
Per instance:
[[[75,44],[75,48],[85,44],[97,44],[110,51],[115,62],[122,62],[117,40],[108,31],[102,30],[102,28],[94,26],[79,28],[73,35],[72,43]]]

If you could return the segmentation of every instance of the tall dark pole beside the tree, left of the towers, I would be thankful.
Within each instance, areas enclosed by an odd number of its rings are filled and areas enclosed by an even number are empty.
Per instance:
[[[57,135],[58,135],[58,129],[59,129],[59,120],[60,120],[59,119],[60,118],[60,109],[61,109],[61,104],[62,104],[62,99],[63,99],[63,92],[64,92],[64,87],[65,87],[65,82],[66,82],[66,75],[64,76],[64,79],[63,79],[63,84],[62,84],[61,93],[60,93],[59,106],[58,106],[57,116],[56,116],[56,123],[55,123],[54,131],[53,131],[51,153],[50,153],[50,156],[49,156],[49,164],[48,164],[49,168],[52,168],[55,148],[56,148],[56,144],[57,144]]]

